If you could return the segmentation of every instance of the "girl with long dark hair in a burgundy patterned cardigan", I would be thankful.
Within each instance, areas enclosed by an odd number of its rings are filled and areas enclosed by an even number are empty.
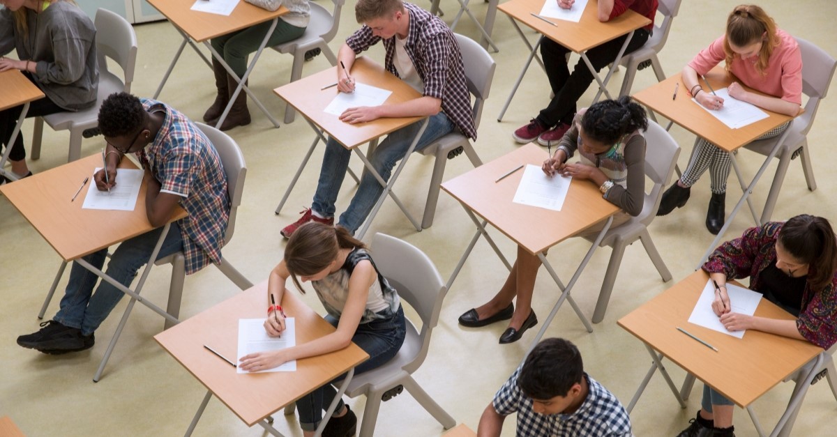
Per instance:
[[[837,237],[828,220],[802,214],[785,223],[747,229],[740,238],[718,246],[702,269],[719,285],[712,311],[728,330],[755,329],[824,349],[837,343]],[[732,312],[727,280],[747,276],[751,290],[796,319]],[[696,419],[680,435],[734,435],[732,401],[706,386],[701,404]]]

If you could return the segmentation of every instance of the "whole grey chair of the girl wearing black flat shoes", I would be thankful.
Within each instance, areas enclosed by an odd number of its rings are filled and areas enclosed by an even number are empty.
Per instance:
[[[610,246],[613,252],[610,254],[608,270],[604,273],[602,290],[598,293],[596,310],[593,312],[593,323],[598,323],[604,318],[608,310],[610,294],[614,290],[616,275],[619,273],[619,265],[622,264],[622,256],[625,248],[639,239],[642,242],[645,252],[654,263],[664,282],[671,280],[671,273],[660,257],[660,252],[651,240],[648,233],[648,226],[654,220],[657,209],[660,208],[660,200],[663,198],[663,188],[671,180],[675,171],[677,157],[680,155],[680,146],[677,141],[665,131],[662,126],[654,121],[648,121],[648,130],[644,132],[645,143],[645,176],[654,183],[650,192],[645,193],[642,212],[632,217],[629,221],[615,228],[609,229],[604,234],[599,247]],[[587,237],[588,240],[595,240],[596,235]]]

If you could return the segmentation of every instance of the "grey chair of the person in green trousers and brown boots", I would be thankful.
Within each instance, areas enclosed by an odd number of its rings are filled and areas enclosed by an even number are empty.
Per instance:
[[[291,82],[300,80],[302,77],[302,64],[305,62],[308,50],[320,49],[332,66],[337,64],[337,58],[328,48],[328,43],[331,42],[331,39],[334,39],[334,35],[337,33],[340,13],[346,0],[331,0],[331,3],[334,3],[333,13],[328,13],[326,8],[316,3],[309,3],[311,5],[311,21],[308,23],[306,32],[302,33],[300,38],[272,47],[279,53],[294,55],[294,64],[290,69]],[[285,124],[293,122],[295,114],[294,108],[287,105],[285,107]]]

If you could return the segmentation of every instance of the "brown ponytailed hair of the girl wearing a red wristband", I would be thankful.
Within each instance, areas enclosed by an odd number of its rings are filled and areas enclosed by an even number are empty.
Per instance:
[[[316,275],[337,259],[340,249],[356,247],[366,249],[366,245],[352,237],[345,228],[309,222],[290,235],[285,246],[285,267],[296,289],[305,293],[297,276]]]

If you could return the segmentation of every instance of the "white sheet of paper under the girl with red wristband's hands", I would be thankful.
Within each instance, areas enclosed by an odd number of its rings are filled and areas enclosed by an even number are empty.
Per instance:
[[[239,358],[254,352],[279,351],[296,346],[296,323],[293,317],[285,319],[285,332],[282,337],[270,337],[264,331],[264,319],[239,319]],[[276,368],[247,372],[236,369],[238,373],[266,373],[266,372],[296,372],[296,360],[285,362]]]

